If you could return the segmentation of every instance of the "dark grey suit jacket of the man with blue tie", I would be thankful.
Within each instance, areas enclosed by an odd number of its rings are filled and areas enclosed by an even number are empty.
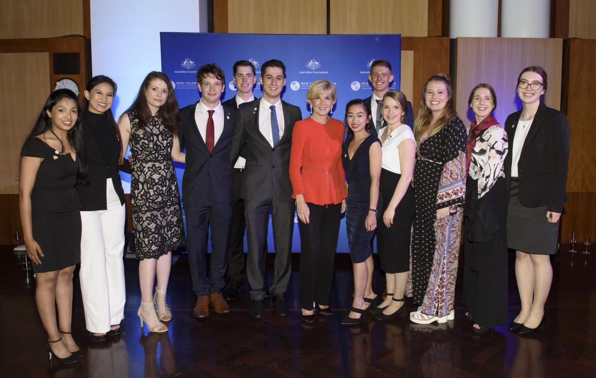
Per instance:
[[[234,131],[232,162],[246,145],[246,166],[241,197],[245,200],[292,201],[290,147],[294,123],[302,119],[300,108],[281,101],[284,135],[274,147],[259,131],[260,99],[240,105],[241,126]]]

